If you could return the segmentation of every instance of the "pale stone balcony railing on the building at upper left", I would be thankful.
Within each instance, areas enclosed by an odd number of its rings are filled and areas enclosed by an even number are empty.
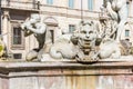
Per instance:
[[[10,1],[10,0],[1,0],[2,8],[14,8],[14,9],[27,9],[27,10],[39,10],[39,2],[32,1]]]

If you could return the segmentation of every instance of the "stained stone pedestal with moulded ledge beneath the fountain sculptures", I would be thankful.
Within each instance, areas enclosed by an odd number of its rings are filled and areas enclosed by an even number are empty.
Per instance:
[[[0,89],[133,89],[133,61],[0,62]]]

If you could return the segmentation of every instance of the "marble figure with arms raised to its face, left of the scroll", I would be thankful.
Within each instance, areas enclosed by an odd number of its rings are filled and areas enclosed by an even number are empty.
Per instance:
[[[27,60],[32,60],[37,58],[38,52],[43,48],[45,41],[45,31],[47,26],[41,22],[40,14],[31,14],[30,19],[21,24],[22,30],[24,31],[24,36],[34,34],[38,40],[39,48],[31,50],[27,55]]]

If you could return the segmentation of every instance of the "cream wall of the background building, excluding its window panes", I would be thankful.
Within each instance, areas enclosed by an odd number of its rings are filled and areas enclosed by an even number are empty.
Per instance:
[[[38,1],[40,4],[38,6]],[[44,19],[52,19],[59,27],[54,27],[55,37],[61,34],[61,30],[69,31],[69,24],[79,24],[81,21],[81,0],[74,0],[73,8],[69,8],[69,0],[53,0],[53,4],[48,4],[47,0],[1,0],[2,2],[2,33],[3,40],[10,53],[22,53],[24,59],[27,52],[35,47],[38,42],[33,36],[22,38],[22,47],[12,48],[12,22],[23,22],[31,13],[40,13]],[[82,0],[83,19],[84,20],[99,20],[100,7],[103,0],[93,0],[93,10],[89,10],[88,0]],[[129,23],[125,28],[130,29],[130,39],[133,42],[132,28],[133,28],[133,2],[130,3]],[[59,29],[60,28],[60,29]],[[125,32],[122,34],[125,39]]]

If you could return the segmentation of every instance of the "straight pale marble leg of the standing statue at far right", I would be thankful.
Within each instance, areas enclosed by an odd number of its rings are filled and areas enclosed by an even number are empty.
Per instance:
[[[124,24],[126,22],[127,19],[127,7],[126,4],[124,4],[121,10],[119,11],[119,17],[120,17],[120,22],[117,26],[117,32],[116,32],[116,41],[120,42],[121,40],[121,34],[122,31],[124,30]]]

